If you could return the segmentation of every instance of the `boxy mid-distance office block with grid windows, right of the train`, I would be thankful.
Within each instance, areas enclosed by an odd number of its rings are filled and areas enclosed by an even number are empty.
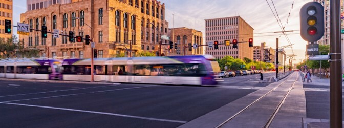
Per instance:
[[[206,48],[206,54],[221,59],[226,55],[234,58],[253,59],[253,48],[248,45],[248,39],[253,38],[253,28],[240,16],[205,19],[206,42],[219,41],[219,49]],[[237,39],[238,49],[231,46],[221,45],[225,40]]]

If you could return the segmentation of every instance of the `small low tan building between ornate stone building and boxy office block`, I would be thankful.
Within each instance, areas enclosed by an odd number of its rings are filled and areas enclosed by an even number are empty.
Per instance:
[[[174,48],[171,50],[173,52],[174,56],[178,55],[203,55],[204,54],[204,46],[203,45],[203,39],[202,39],[202,32],[197,31],[195,29],[189,29],[189,28],[174,28],[170,29],[171,31],[171,40],[173,40],[174,43],[177,43],[177,49]],[[200,47],[197,47],[197,49],[193,49],[193,44],[197,44]],[[175,44],[174,44],[175,45]],[[189,47],[191,45],[191,51],[189,51]]]

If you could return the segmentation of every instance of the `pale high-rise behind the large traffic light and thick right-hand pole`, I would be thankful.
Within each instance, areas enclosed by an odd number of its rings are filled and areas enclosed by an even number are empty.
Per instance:
[[[320,3],[322,6],[324,6],[324,24],[325,24],[325,33],[324,36],[322,36],[321,39],[317,41],[319,45],[330,45],[330,0],[314,0],[314,2]],[[340,13],[343,13],[343,3],[344,0],[340,0]],[[341,16],[343,17],[343,16]],[[343,18],[340,19],[341,28],[344,26],[344,20]]]

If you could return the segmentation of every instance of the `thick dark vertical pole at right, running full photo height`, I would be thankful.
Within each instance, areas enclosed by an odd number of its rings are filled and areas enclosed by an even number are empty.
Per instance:
[[[340,1],[330,0],[330,127],[342,127]]]

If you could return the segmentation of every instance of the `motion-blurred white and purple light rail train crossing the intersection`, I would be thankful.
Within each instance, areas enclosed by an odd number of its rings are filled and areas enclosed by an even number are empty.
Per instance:
[[[211,55],[94,59],[94,81],[214,85],[220,67]],[[0,60],[0,78],[90,81],[91,59]]]

